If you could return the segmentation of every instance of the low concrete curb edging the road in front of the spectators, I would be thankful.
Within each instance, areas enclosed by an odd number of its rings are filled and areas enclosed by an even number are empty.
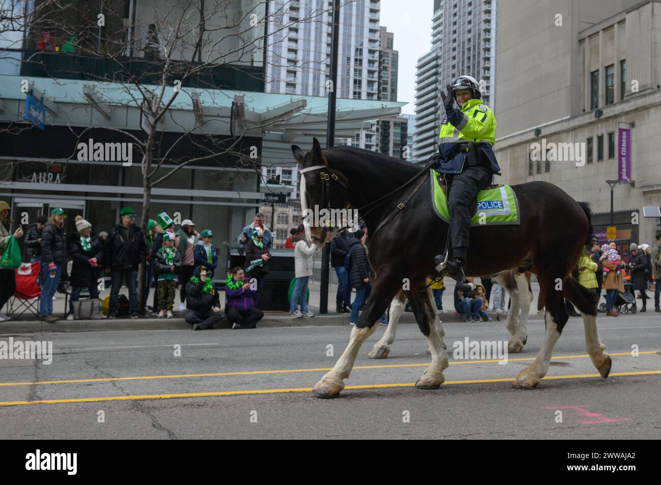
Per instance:
[[[504,321],[502,313],[488,312],[494,322]],[[439,315],[443,323],[463,323],[463,317],[459,313],[444,313]],[[543,316],[529,315],[528,320],[543,320]],[[415,324],[412,313],[405,312],[399,322],[402,324]],[[294,326],[349,326],[349,315],[316,315],[315,317],[293,318],[287,313],[266,312],[260,320],[260,327],[294,327]],[[108,332],[127,330],[190,330],[191,326],[183,318],[119,318],[116,320],[58,320],[54,324],[41,322],[40,320],[9,320],[0,323],[0,335],[9,334],[31,334],[51,332]],[[216,329],[229,328],[229,325],[216,326]]]

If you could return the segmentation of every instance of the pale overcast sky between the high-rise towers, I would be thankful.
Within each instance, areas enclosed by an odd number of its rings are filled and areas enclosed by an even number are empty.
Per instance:
[[[381,0],[382,27],[395,34],[399,51],[397,100],[408,101],[402,113],[415,114],[415,64],[432,48],[434,0]]]

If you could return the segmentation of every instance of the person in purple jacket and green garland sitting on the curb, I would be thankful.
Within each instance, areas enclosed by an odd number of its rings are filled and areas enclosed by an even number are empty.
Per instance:
[[[232,268],[225,280],[225,314],[232,328],[257,328],[257,322],[264,318],[264,312],[254,307],[255,293],[251,281],[244,281],[243,268]]]

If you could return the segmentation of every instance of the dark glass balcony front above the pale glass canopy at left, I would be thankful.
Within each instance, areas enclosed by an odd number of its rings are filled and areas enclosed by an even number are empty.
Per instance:
[[[40,52],[37,50],[10,50],[3,57],[15,57],[16,72],[5,74],[52,77],[55,79],[80,79],[83,81],[106,81],[114,83],[138,82],[160,85],[163,68],[142,57],[117,56],[115,59],[85,54],[63,52]],[[29,60],[28,60],[29,59]],[[196,65],[190,61],[172,61],[166,83],[173,85],[187,67]],[[242,91],[264,92],[264,67],[249,65],[217,64],[190,76],[186,87],[201,89],[241,89]]]

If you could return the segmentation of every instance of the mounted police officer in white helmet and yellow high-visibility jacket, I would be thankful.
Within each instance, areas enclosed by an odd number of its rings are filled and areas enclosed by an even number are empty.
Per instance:
[[[480,190],[491,184],[500,167],[492,149],[496,118],[481,99],[479,85],[471,76],[460,76],[441,92],[446,116],[438,144],[438,172],[447,177],[449,250],[446,274],[461,281],[467,266],[469,229],[473,214],[469,206]],[[455,102],[459,106],[455,106]],[[434,258],[437,270],[444,255]]]

